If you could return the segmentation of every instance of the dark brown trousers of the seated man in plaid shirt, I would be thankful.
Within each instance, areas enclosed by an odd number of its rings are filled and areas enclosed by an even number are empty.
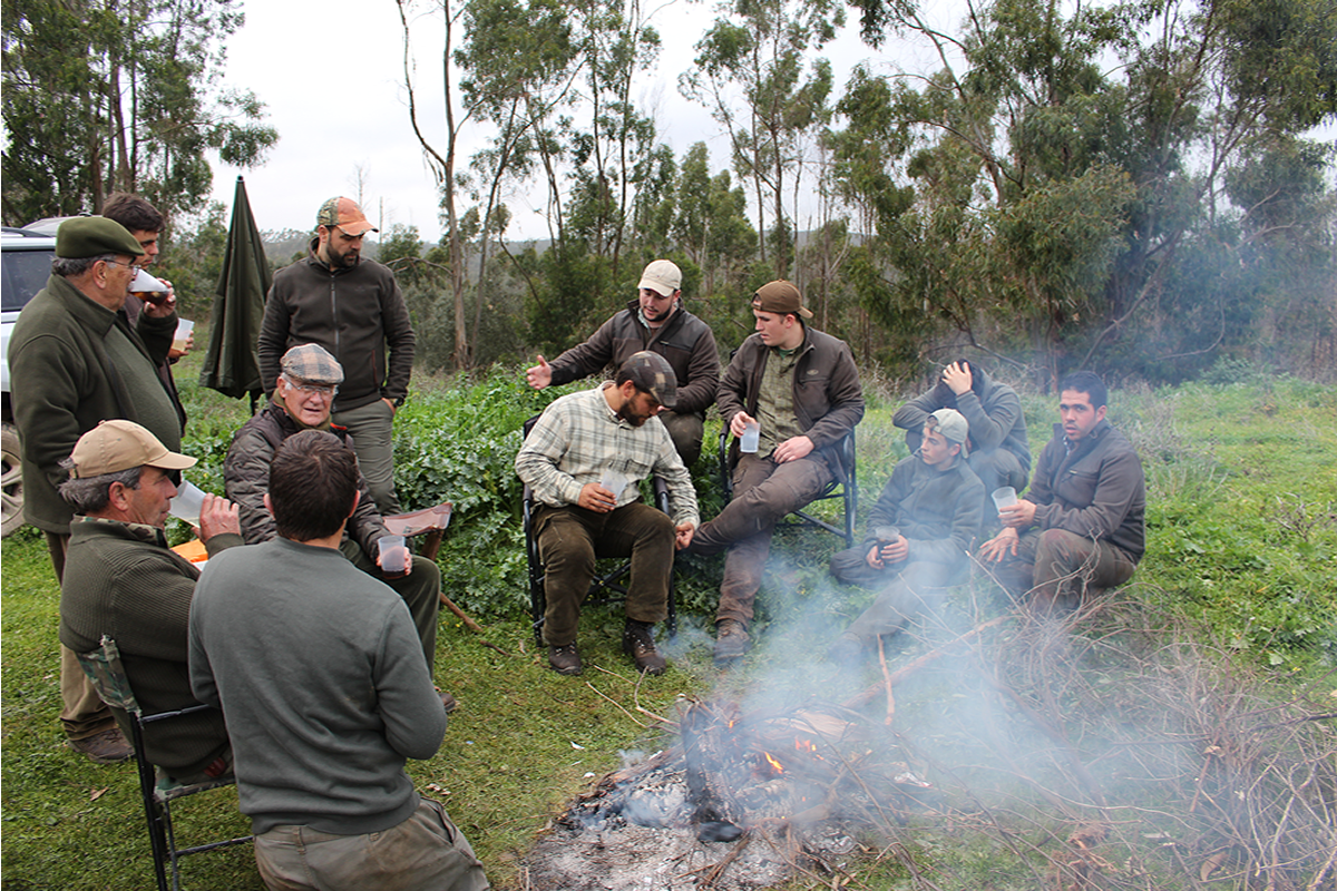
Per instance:
[[[533,534],[544,569],[543,641],[548,647],[575,643],[580,604],[599,557],[631,557],[627,618],[654,624],[668,614],[674,525],[662,510],[639,501],[610,513],[536,505]]]

